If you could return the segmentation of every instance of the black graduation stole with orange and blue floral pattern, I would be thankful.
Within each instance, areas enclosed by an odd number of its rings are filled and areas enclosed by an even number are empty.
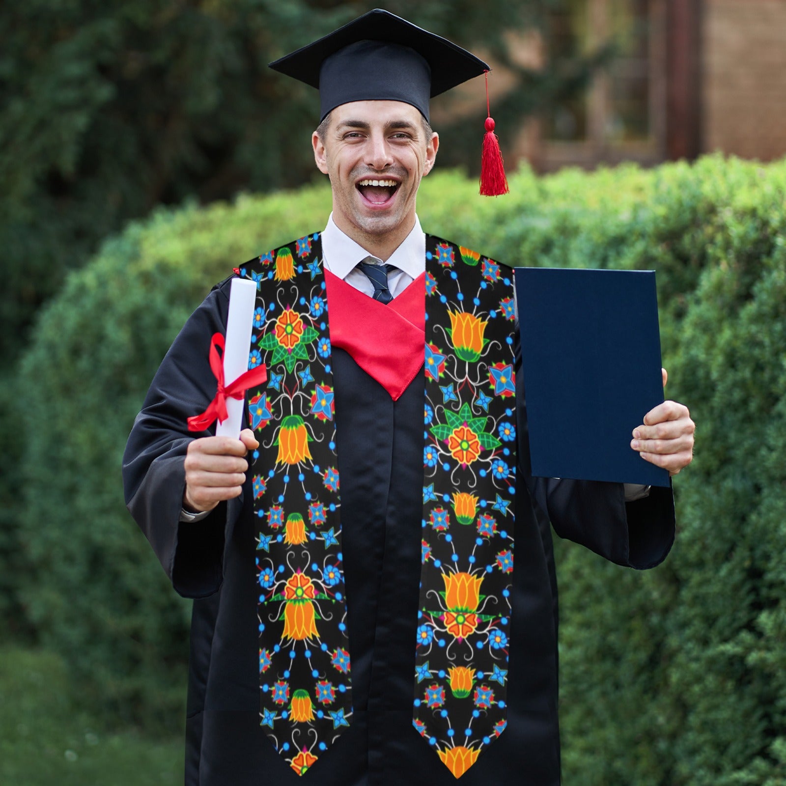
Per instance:
[[[352,716],[321,259],[315,233],[240,270],[258,288],[248,365],[265,363],[268,373],[266,386],[247,394],[248,422],[260,443],[251,469],[260,722],[299,774]],[[424,287],[413,725],[461,777],[506,723],[516,472],[512,271],[427,236]]]

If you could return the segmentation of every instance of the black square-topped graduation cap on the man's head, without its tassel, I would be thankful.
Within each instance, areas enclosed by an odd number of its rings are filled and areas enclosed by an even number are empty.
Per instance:
[[[350,101],[428,99],[489,71],[479,57],[383,9],[364,13],[270,68],[319,89],[321,119]]]

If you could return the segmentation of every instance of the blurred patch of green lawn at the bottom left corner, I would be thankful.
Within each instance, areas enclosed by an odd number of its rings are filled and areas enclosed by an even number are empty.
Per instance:
[[[183,740],[105,731],[79,708],[57,654],[0,648],[0,784],[174,786]]]

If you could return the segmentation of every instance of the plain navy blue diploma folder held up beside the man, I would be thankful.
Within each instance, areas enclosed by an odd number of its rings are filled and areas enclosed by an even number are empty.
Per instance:
[[[630,447],[663,402],[655,273],[516,268],[532,474],[668,486]]]

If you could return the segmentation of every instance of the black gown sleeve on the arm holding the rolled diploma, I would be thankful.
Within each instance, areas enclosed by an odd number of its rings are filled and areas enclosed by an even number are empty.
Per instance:
[[[185,451],[192,439],[209,435],[189,432],[186,421],[215,395],[208,353],[213,333],[226,332],[230,281],[210,292],[172,343],[123,455],[126,505],[183,597],[208,597],[221,586],[225,529],[241,509],[235,499],[200,521],[180,521]]]

